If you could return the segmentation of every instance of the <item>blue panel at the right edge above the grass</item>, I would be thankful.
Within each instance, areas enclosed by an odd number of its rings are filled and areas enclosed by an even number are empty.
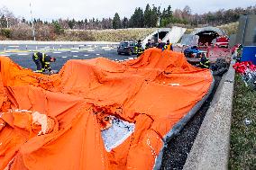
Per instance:
[[[251,61],[256,65],[256,46],[244,46],[241,61]]]

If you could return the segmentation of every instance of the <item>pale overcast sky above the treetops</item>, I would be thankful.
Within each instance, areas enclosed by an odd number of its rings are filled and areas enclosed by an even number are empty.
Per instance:
[[[0,7],[6,6],[15,16],[30,19],[30,3],[33,17],[50,21],[59,18],[101,19],[114,17],[116,12],[122,18],[130,18],[135,7],[145,9],[146,4],[161,5],[161,8],[170,4],[173,10],[189,5],[192,13],[205,13],[256,5],[256,0],[0,0]]]

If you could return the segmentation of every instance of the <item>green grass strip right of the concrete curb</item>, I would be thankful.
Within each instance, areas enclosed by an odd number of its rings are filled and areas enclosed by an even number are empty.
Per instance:
[[[251,124],[246,125],[245,120]],[[229,169],[256,169],[256,91],[235,76]]]

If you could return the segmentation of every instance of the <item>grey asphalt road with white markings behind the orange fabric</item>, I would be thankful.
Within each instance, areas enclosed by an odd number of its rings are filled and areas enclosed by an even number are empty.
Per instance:
[[[32,61],[32,54],[36,51],[44,52],[56,58],[50,66],[59,70],[69,59],[90,59],[104,57],[115,61],[133,59],[136,56],[118,55],[115,46],[110,45],[3,45],[0,44],[0,56],[12,58],[15,63],[22,67],[36,69]]]

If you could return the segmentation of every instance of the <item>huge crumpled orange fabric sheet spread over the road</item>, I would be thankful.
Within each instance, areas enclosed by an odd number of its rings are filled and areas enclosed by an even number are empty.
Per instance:
[[[123,63],[69,60],[52,76],[3,57],[0,71],[0,169],[19,170],[151,169],[165,135],[213,82],[161,49]],[[113,117],[135,128],[107,150],[101,130]]]

